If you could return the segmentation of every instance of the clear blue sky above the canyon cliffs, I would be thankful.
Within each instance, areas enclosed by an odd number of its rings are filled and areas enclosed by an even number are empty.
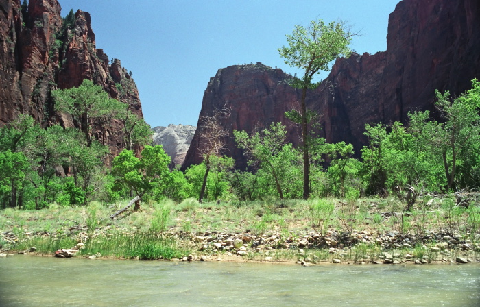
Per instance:
[[[278,55],[285,34],[311,20],[348,21],[357,53],[387,48],[399,0],[58,0],[89,12],[97,48],[121,60],[139,88],[145,121],[197,125],[208,80],[226,66],[262,62],[296,73]],[[322,73],[323,79],[328,73]]]

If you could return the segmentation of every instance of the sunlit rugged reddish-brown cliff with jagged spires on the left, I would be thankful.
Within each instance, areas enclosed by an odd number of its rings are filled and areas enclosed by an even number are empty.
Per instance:
[[[18,0],[0,1],[0,127],[21,113],[31,114],[44,127],[72,127],[69,116],[54,111],[51,90],[80,86],[84,79],[143,116],[133,79],[119,60],[110,65],[96,48],[90,14],[79,10],[65,27],[60,10],[57,0],[29,0],[26,12]],[[112,154],[125,147],[117,121],[94,134]]]

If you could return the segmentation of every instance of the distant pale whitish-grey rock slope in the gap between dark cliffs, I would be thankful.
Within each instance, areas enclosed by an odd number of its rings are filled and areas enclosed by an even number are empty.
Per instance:
[[[191,125],[168,125],[154,127],[155,145],[163,145],[163,150],[171,158],[171,167],[182,165],[197,127]]]

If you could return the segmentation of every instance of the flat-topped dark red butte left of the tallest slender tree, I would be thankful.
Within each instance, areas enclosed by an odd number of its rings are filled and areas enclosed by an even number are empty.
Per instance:
[[[245,168],[246,160],[241,149],[235,147],[233,130],[252,132],[267,127],[273,121],[291,125],[285,121],[285,112],[294,107],[300,92],[287,84],[289,77],[280,69],[256,63],[219,69],[208,82],[200,116],[213,116],[215,110],[231,108],[229,118],[220,124],[229,133],[224,154],[234,157],[237,167]],[[198,151],[204,142],[199,138],[201,124],[199,120],[182,169],[202,162]],[[289,131],[293,139],[294,130]]]

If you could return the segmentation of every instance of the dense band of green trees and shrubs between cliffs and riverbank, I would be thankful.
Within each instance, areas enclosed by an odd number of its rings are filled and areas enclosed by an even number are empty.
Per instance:
[[[440,121],[431,119],[429,112],[412,112],[406,126],[399,122],[365,125],[368,145],[361,150],[361,159],[355,158],[352,145],[326,143],[311,134],[311,197],[342,197],[355,204],[359,195],[398,195],[407,204],[405,191],[411,186],[416,191],[439,193],[478,190],[479,92],[480,82],[473,80],[472,89],[460,97],[437,93],[435,106]],[[144,202],[169,198],[178,203],[191,197],[235,202],[303,196],[302,149],[287,143],[281,123],[250,135],[234,132],[237,146],[249,161],[245,171],[233,170],[234,160],[219,155],[226,134],[218,126],[206,130],[217,130],[217,136],[210,138],[215,146],[208,147],[204,162],[184,173],[169,169],[171,160],[160,145],[144,146],[139,157],[125,149],[114,158],[112,169],[106,169],[108,147],[95,139],[92,125],[117,114],[125,131],[130,131],[125,140],[130,148],[145,145],[150,132],[143,120],[125,110],[123,103],[110,101],[102,93],[90,82],[84,82],[80,90],[55,93],[54,97],[63,101],[58,110],[73,112],[81,129],[60,125],[43,129],[23,114],[0,128],[1,207],[41,209],[52,203],[84,205],[91,199],[116,201],[135,195]],[[95,95],[98,97],[92,98]],[[78,101],[88,100],[82,97],[97,102],[81,109]],[[88,121],[82,126],[84,116]],[[135,132],[135,127],[139,131]],[[312,208],[312,212],[321,211],[322,206]],[[351,219],[348,214],[345,212],[345,221]]]

